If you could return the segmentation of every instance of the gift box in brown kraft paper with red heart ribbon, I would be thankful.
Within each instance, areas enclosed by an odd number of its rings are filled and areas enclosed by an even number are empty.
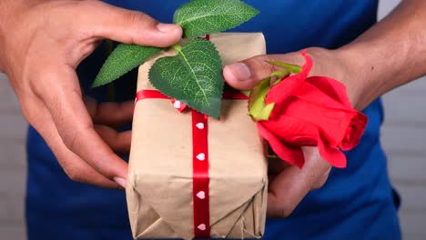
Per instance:
[[[264,36],[216,34],[210,41],[224,65],[266,52]],[[264,145],[247,99],[228,95],[220,118],[183,110],[155,91],[139,67],[127,205],[135,239],[260,238],[266,220],[268,175]],[[144,94],[145,93],[145,94]]]

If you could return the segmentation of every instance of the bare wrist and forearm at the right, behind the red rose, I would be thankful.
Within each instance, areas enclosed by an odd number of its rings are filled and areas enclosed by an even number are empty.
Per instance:
[[[393,88],[426,74],[424,1],[402,1],[391,15],[336,50],[349,62],[355,107],[362,110]]]

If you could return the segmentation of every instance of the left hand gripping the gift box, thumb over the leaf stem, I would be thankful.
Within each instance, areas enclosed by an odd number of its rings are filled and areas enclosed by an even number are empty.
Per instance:
[[[103,38],[168,46],[182,29],[100,1],[2,0],[0,70],[15,88],[26,120],[46,140],[73,180],[105,187],[126,185],[133,105],[97,105],[85,99],[76,66]]]

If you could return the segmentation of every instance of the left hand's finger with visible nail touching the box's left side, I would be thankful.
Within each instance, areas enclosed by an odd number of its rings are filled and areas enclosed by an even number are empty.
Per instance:
[[[127,179],[127,163],[96,133],[82,100],[76,72],[64,67],[49,71],[33,87],[53,117],[66,147],[110,180]],[[49,91],[46,91],[49,89]]]

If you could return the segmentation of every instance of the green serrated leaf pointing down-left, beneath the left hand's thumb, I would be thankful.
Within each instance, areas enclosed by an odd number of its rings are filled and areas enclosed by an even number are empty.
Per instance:
[[[116,49],[108,56],[97,74],[92,87],[106,85],[122,75],[127,74],[133,68],[143,64],[152,55],[158,54],[162,48],[142,45],[117,45]]]

